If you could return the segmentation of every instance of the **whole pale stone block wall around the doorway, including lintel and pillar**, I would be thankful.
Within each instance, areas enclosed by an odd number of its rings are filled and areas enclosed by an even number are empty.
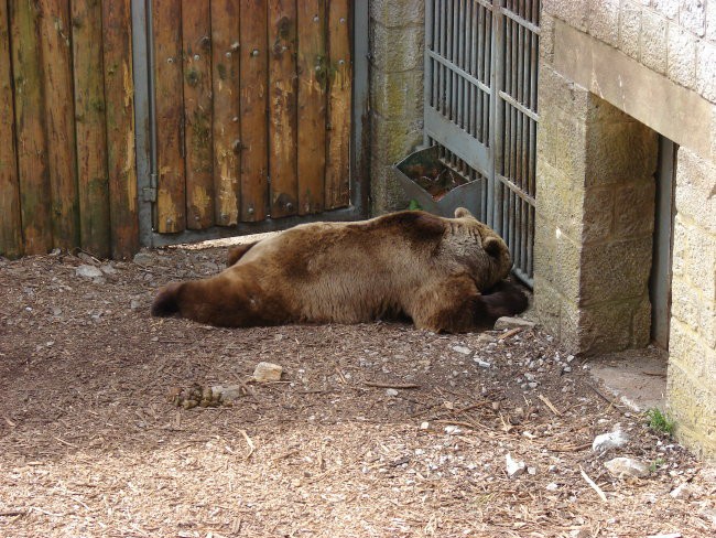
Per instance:
[[[668,399],[716,456],[716,0],[543,0],[540,53],[540,320],[575,351],[647,343],[655,133],[676,142]]]

